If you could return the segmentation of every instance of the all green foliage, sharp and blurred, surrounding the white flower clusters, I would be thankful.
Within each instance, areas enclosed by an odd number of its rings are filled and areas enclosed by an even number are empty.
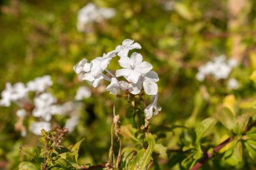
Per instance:
[[[211,157],[202,169],[255,169],[256,2],[95,0],[96,5],[114,7],[117,13],[80,33],[77,11],[88,2],[0,2],[1,91],[6,82],[51,75],[54,86],[49,90],[58,103],[73,100],[79,86],[89,87],[78,81],[75,63],[102,56],[131,38],[143,46],[143,59],[159,75],[162,112],[147,125],[143,108],[150,103],[149,97],[114,97],[102,90],[106,88],[102,83],[82,101],[72,133],[59,128],[42,131],[38,137],[29,130],[21,136],[17,108],[1,107],[0,169],[3,165],[11,170],[93,166],[183,170],[200,163],[205,154]],[[197,81],[199,67],[221,54],[238,60],[229,77],[209,75]],[[110,71],[116,69],[120,67],[110,65]],[[228,87],[232,78],[238,81],[238,89]],[[113,105],[120,116],[115,127]],[[63,127],[66,118],[56,119]],[[23,121],[30,126],[34,118],[27,116]]]

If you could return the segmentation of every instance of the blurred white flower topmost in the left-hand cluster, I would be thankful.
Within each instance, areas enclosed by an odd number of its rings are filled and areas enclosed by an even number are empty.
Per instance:
[[[44,75],[42,77],[37,77],[34,81],[29,81],[27,83],[28,91],[38,91],[43,92],[49,86],[53,85],[51,76]]]

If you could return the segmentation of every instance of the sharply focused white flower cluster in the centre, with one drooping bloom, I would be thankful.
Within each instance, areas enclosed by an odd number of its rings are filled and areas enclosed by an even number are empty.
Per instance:
[[[141,54],[133,52],[130,57],[128,56],[129,50],[140,48],[139,43],[126,39],[115,50],[94,58],[91,62],[84,58],[75,65],[74,70],[75,73],[82,75],[82,80],[88,81],[93,87],[97,87],[103,79],[110,81],[106,91],[110,91],[113,95],[117,95],[121,91],[129,91],[133,95],[137,95],[143,87],[145,93],[154,98],[153,103],[144,110],[146,118],[150,119],[153,114],[156,115],[161,110],[156,105],[158,99],[156,82],[159,79],[158,74],[152,71],[152,65],[142,60]],[[120,57],[118,62],[123,69],[117,70],[114,75],[106,68],[115,56]],[[108,73],[110,77],[106,76],[104,72]],[[118,77],[124,77],[127,81],[121,81]]]

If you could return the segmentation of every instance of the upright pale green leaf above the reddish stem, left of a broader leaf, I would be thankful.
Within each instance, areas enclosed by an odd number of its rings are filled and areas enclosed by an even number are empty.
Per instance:
[[[195,133],[197,134],[197,141],[201,140],[205,134],[207,134],[212,128],[214,128],[216,124],[216,119],[214,118],[206,118],[203,120],[196,128]]]

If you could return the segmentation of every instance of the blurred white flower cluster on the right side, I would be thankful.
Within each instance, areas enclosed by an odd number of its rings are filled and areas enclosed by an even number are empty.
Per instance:
[[[226,56],[218,56],[212,61],[199,67],[196,75],[198,81],[203,81],[207,75],[213,75],[216,79],[227,79],[232,69],[237,65],[236,60],[226,60]]]

